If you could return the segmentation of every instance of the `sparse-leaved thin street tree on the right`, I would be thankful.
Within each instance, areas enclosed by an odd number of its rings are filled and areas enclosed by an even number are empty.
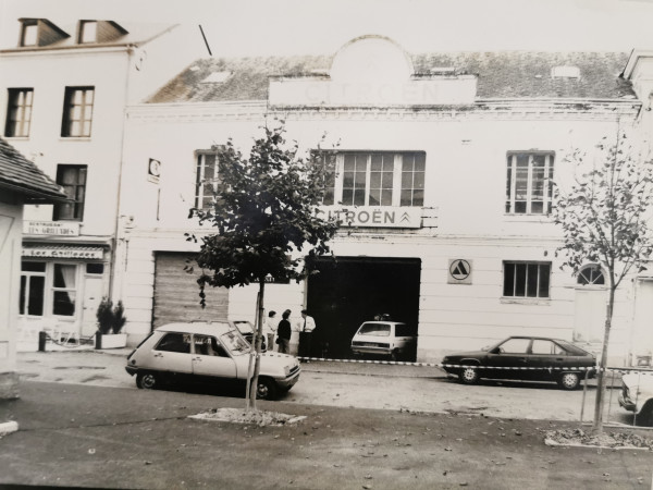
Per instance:
[[[592,164],[578,149],[564,161],[578,171],[565,193],[556,183],[555,223],[563,229],[563,267],[575,274],[583,265],[601,264],[607,272],[605,330],[597,373],[592,431],[603,431],[605,367],[613,321],[615,293],[624,278],[637,272],[653,250],[649,224],[653,204],[653,161],[641,158],[618,133],[614,143],[604,137],[597,145],[600,158]]]

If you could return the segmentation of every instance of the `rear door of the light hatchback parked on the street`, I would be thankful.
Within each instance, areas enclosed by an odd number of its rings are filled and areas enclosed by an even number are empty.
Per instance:
[[[150,352],[144,364],[148,370],[158,371],[173,381],[183,381],[193,373],[190,334],[168,332]]]

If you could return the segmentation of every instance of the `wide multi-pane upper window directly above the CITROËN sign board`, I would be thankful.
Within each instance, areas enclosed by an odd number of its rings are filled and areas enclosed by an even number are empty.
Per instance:
[[[324,154],[324,164],[325,206],[423,206],[423,151]]]

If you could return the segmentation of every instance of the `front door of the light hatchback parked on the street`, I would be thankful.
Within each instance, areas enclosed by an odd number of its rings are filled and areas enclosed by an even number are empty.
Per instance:
[[[220,340],[212,335],[193,336],[193,375],[198,381],[232,385],[236,381],[236,363]]]

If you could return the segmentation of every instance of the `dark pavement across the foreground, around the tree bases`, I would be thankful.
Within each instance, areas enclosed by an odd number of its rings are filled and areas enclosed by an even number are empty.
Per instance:
[[[554,448],[575,422],[258,402],[282,427],[196,420],[243,399],[23,382],[0,402],[0,486],[234,489],[648,489],[653,452]],[[650,437],[650,433],[646,434]]]

